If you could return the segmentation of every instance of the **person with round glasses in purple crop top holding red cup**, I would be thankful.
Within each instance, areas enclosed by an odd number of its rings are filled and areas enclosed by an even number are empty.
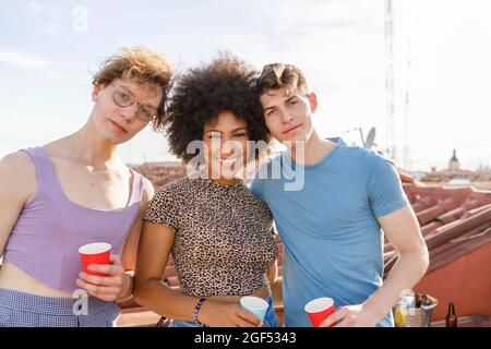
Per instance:
[[[116,324],[154,194],[118,146],[148,123],[160,128],[171,80],[161,55],[123,48],[94,75],[79,131],[0,160],[0,327]],[[89,242],[112,245],[110,264],[92,266],[107,276],[82,273],[77,249]]]

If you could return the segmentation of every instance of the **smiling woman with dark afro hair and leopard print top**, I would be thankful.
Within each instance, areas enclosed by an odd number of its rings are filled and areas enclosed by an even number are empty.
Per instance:
[[[159,189],[149,203],[134,294],[175,327],[278,325],[271,296],[278,255],[273,217],[237,178],[260,156],[249,145],[268,141],[255,76],[243,61],[220,56],[187,72],[168,106],[164,124],[171,151],[204,166],[200,176]],[[196,142],[199,154],[190,146]],[[179,291],[161,282],[169,254]],[[263,322],[240,306],[243,296],[268,302]]]

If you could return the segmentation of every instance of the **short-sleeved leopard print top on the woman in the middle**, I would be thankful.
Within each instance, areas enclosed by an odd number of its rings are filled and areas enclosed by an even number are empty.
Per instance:
[[[188,296],[242,296],[268,286],[278,256],[273,215],[243,183],[185,177],[160,188],[144,220],[173,228],[171,254]]]

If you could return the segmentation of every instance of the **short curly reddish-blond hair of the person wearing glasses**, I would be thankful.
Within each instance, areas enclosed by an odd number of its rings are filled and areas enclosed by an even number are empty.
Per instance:
[[[153,121],[153,128],[163,125],[167,97],[172,83],[172,67],[165,56],[143,47],[123,47],[121,52],[106,59],[92,81],[94,86],[107,86],[117,79],[131,80],[161,88],[163,98]]]

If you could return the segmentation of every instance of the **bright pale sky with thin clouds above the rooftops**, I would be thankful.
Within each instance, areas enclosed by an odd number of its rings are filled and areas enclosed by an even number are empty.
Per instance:
[[[393,0],[395,163],[411,171],[491,167],[491,3]],[[229,50],[261,69],[298,65],[319,99],[322,136],[388,147],[385,0],[0,0],[0,157],[79,130],[92,76],[122,46],[180,70]],[[405,151],[406,149],[406,151]],[[149,128],[128,164],[175,160]]]

